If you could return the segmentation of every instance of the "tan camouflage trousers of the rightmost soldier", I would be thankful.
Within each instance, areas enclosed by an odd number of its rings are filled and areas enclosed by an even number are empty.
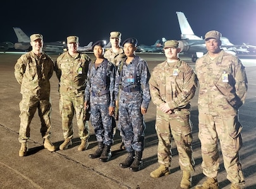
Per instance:
[[[239,149],[241,148],[241,124],[237,115],[211,116],[199,113],[199,133],[202,151],[202,168],[205,176],[216,177],[219,169],[219,151],[221,144],[224,167],[231,183],[243,183]]]

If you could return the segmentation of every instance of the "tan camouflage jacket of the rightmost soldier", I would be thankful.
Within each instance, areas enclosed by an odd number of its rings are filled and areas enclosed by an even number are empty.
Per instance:
[[[197,60],[195,71],[200,85],[198,110],[220,115],[237,113],[247,95],[247,75],[240,59],[221,50],[216,59],[205,54]]]

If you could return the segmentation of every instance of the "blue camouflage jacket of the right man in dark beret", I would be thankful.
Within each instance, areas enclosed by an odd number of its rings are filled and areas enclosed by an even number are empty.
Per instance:
[[[114,93],[116,100],[127,101],[130,103],[142,102],[143,108],[148,108],[151,96],[149,91],[150,72],[147,62],[135,55],[130,64],[126,65],[125,60],[123,64],[119,64],[116,71],[116,83],[114,86]],[[131,80],[129,77],[132,76]],[[123,88],[139,88],[135,92],[125,92]],[[119,95],[119,97],[118,97]]]

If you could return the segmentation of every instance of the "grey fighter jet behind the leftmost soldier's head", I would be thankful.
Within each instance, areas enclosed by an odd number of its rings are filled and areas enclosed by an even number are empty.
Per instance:
[[[14,44],[15,49],[18,50],[30,50],[30,38],[21,30],[21,28],[13,27],[18,42]],[[57,42],[44,42],[43,50],[44,52],[63,52],[63,49],[66,48],[66,43],[57,41]]]

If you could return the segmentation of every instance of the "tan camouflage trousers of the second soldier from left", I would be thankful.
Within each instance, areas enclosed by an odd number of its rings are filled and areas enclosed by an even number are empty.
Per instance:
[[[84,98],[81,96],[60,95],[59,111],[62,117],[62,129],[64,139],[73,138],[73,117],[76,114],[76,122],[78,126],[78,135],[80,139],[85,140],[89,136],[88,122],[83,120]]]

